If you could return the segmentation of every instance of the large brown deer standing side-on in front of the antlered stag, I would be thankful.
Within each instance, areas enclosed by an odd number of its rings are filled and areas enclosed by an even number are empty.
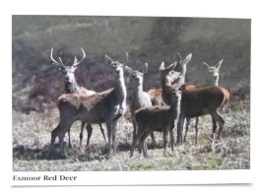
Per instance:
[[[128,53],[127,60],[128,60]],[[59,137],[60,156],[65,158],[63,139],[76,120],[88,123],[105,123],[108,137],[108,154],[116,151],[116,124],[126,109],[126,88],[123,70],[125,64],[105,56],[115,72],[115,87],[93,96],[81,94],[62,95],[58,98],[60,122],[51,132],[50,151],[55,138]],[[127,62],[127,61],[126,61]]]

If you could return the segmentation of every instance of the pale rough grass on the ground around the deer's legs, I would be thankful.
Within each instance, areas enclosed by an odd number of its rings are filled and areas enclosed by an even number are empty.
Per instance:
[[[66,134],[66,160],[58,159],[58,140],[51,156],[47,155],[50,133],[59,121],[57,108],[43,113],[24,114],[13,111],[13,169],[19,171],[85,171],[85,170],[209,170],[250,168],[250,108],[249,98],[231,102],[222,111],[225,126],[221,140],[213,141],[212,119],[207,115],[199,120],[198,144],[190,127],[187,142],[176,146],[174,152],[162,155],[162,135],[156,133],[157,147],[149,143],[149,158],[135,151],[129,158],[132,142],[132,123],[122,117],[118,122],[116,142],[118,152],[108,158],[105,143],[98,125],[94,125],[91,145],[86,149],[84,132],[82,148],[79,147],[80,122],[71,129],[73,147],[68,148]],[[191,125],[194,125],[192,121]],[[105,131],[106,132],[106,131]]]

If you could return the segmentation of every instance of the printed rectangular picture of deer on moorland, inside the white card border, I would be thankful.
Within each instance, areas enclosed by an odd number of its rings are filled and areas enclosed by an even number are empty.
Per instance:
[[[13,15],[13,173],[250,169],[250,65],[250,19]]]

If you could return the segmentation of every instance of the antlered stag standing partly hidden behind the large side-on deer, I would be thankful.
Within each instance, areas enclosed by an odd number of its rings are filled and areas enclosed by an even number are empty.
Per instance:
[[[77,66],[86,58],[86,53],[83,48],[81,48],[83,52],[83,58],[78,61],[77,57],[75,56],[74,63],[71,66],[65,66],[62,62],[62,59],[59,57],[59,62],[56,61],[53,58],[53,47],[51,48],[51,64],[58,70],[60,71],[64,77],[65,77],[65,94],[84,94],[86,96],[93,96],[96,94],[94,91],[87,90],[86,88],[80,87],[77,84],[76,78],[75,78],[75,71],[77,69]],[[82,146],[82,141],[83,141],[83,131],[85,127],[86,122],[82,122],[81,124],[81,132],[80,132],[80,146]],[[101,124],[98,124],[100,127],[100,131],[103,135],[104,141],[105,140],[105,135],[104,135],[104,130],[101,126]],[[88,139],[87,139],[87,147],[90,144],[90,138],[93,133],[93,127],[91,124],[87,123],[87,132],[88,132]],[[71,139],[70,139],[70,130],[68,130],[68,136],[69,136],[69,147],[72,147],[71,145]]]

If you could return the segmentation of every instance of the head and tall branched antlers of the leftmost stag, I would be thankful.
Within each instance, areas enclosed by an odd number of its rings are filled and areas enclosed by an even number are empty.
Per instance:
[[[75,56],[74,63],[71,66],[65,66],[62,62],[62,59],[59,57],[59,62],[53,58],[53,47],[51,48],[51,64],[62,74],[65,76],[66,82],[73,84],[75,81],[75,71],[77,66],[86,58],[86,53],[83,48],[81,48],[83,52],[83,57],[80,61],[78,61],[77,57]]]

